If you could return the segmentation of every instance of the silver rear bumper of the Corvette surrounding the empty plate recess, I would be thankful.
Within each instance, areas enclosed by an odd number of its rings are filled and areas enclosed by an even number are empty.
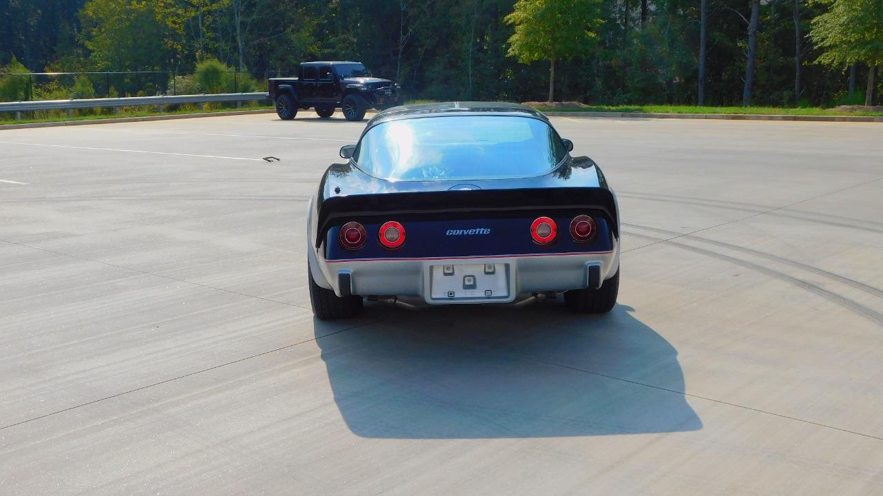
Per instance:
[[[312,255],[312,253],[311,253]],[[510,303],[519,295],[597,289],[619,268],[619,244],[609,252],[555,253],[451,259],[325,260],[315,257],[321,278],[316,282],[337,296],[420,297],[428,304]],[[506,264],[509,295],[504,299],[440,300],[430,295],[432,267],[465,264]],[[324,279],[321,281],[320,279]]]

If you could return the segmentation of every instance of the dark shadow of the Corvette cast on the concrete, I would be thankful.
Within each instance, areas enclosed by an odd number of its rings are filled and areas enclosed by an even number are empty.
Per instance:
[[[368,305],[359,319],[316,320],[315,332],[337,407],[359,436],[701,429],[680,393],[677,351],[631,312],[617,305],[608,315],[586,317],[566,312],[560,301],[418,312]],[[328,334],[335,331],[342,332]]]

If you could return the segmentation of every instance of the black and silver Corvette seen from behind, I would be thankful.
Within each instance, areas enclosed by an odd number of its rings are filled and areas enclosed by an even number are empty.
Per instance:
[[[313,312],[363,298],[511,304],[564,293],[578,312],[615,304],[619,217],[587,157],[570,157],[522,106],[389,109],[332,165],[308,211]]]

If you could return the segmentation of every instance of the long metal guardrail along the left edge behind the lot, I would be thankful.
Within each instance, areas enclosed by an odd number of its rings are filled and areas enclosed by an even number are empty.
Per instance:
[[[15,112],[21,118],[21,112],[31,110],[67,110],[94,109],[113,107],[117,113],[121,107],[139,107],[156,105],[162,111],[165,105],[179,103],[199,103],[207,101],[256,101],[267,98],[266,93],[223,93],[223,94],[176,94],[169,96],[135,96],[127,98],[89,98],[84,100],[44,100],[44,101],[7,101],[0,103],[0,112]]]

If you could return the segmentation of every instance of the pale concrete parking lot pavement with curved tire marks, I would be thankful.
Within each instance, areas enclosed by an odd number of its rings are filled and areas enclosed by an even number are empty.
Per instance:
[[[553,118],[613,312],[325,323],[302,115],[0,132],[0,493],[883,494],[881,124]]]

